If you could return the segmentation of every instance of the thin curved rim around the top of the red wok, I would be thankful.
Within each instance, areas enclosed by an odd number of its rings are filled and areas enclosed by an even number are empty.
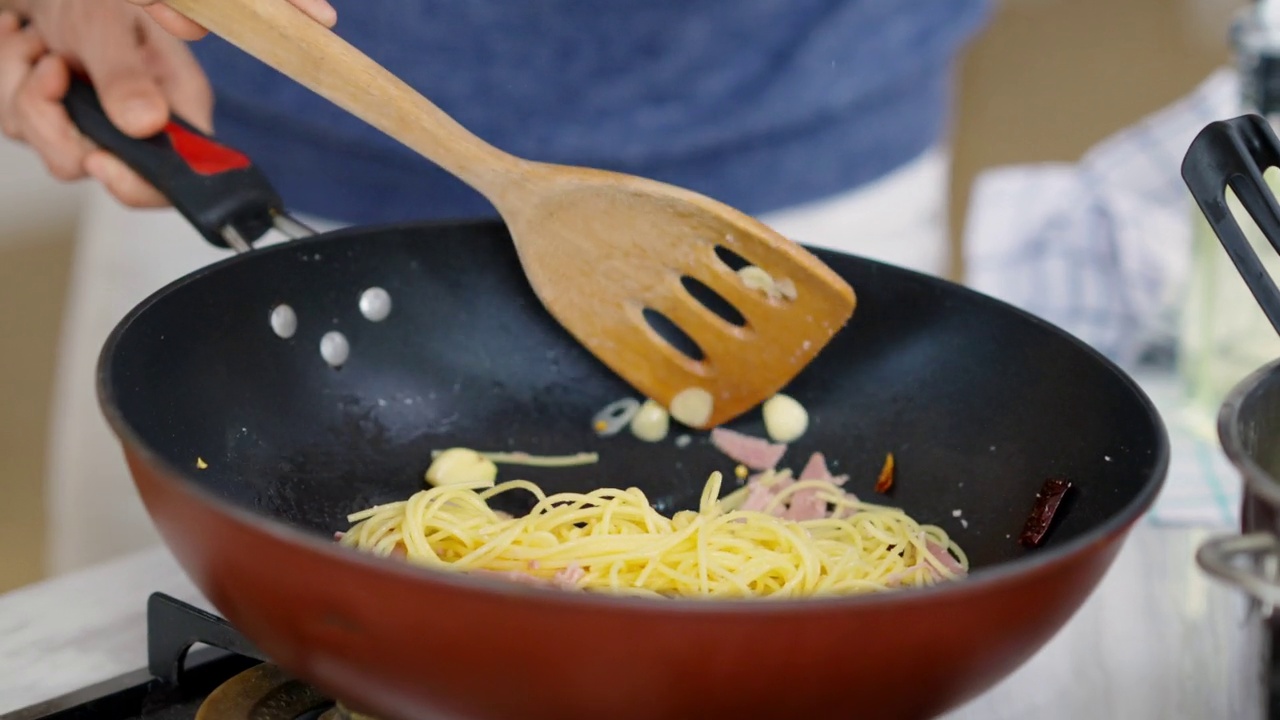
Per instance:
[[[1128,533],[1132,530],[1133,525],[1142,519],[1142,516],[1149,510],[1155,503],[1156,496],[1164,488],[1164,484],[1169,473],[1170,461],[1170,441],[1169,432],[1164,419],[1161,418],[1155,404],[1147,392],[1139,386],[1126,372],[1120,366],[1102,355],[1100,351],[1089,346],[1088,343],[1080,341],[1071,333],[1066,332],[1047,320],[1038,318],[1020,307],[1010,305],[1002,300],[992,297],[989,295],[978,292],[969,288],[961,283],[951,282],[943,278],[937,278],[933,275],[927,275],[910,270],[908,268],[899,268],[895,265],[888,265],[869,258],[863,258],[858,255],[837,252],[832,250],[824,250],[812,246],[804,246],[810,252],[814,252],[819,259],[826,258],[855,258],[861,263],[869,263],[872,265],[886,268],[893,273],[905,273],[915,277],[925,283],[934,286],[943,286],[948,292],[961,292],[969,297],[978,300],[980,302],[995,304],[1000,306],[1004,311],[1012,313],[1025,322],[1041,327],[1042,329],[1056,334],[1065,340],[1066,342],[1075,346],[1076,350],[1085,354],[1096,363],[1098,363],[1103,369],[1108,370],[1116,375],[1121,384],[1134,396],[1139,402],[1142,410],[1144,410],[1152,429],[1155,430],[1155,445],[1152,450],[1152,469],[1148,475],[1143,479],[1143,484],[1134,497],[1115,512],[1106,521],[1100,523],[1088,530],[1083,532],[1079,537],[1075,537],[1061,546],[1036,551],[1033,553],[1018,557],[1015,560],[998,562],[993,566],[980,569],[973,575],[965,578],[961,582],[940,583],[936,585],[925,588],[911,588],[902,592],[877,592],[877,593],[864,593],[864,594],[845,594],[845,596],[818,596],[818,597],[801,597],[801,598],[644,598],[644,597],[631,597],[631,596],[617,596],[604,592],[566,592],[562,589],[548,589],[539,587],[530,587],[521,583],[512,583],[502,579],[493,579],[485,577],[474,577],[465,573],[453,573],[448,570],[435,570],[431,568],[411,565],[408,562],[401,562],[385,557],[378,557],[370,553],[360,552],[352,548],[346,548],[338,546],[334,542],[328,542],[316,537],[314,533],[305,532],[302,529],[294,528],[285,523],[280,523],[275,519],[268,518],[265,515],[259,515],[251,512],[247,509],[239,507],[229,501],[225,501],[210,491],[201,487],[192,479],[192,471],[189,469],[179,468],[173,462],[169,462],[155,452],[142,438],[134,432],[133,427],[124,418],[118,404],[115,402],[115,392],[111,388],[111,360],[115,347],[119,345],[120,338],[128,332],[131,325],[143,315],[151,306],[161,301],[164,297],[172,292],[191,284],[205,275],[223,270],[224,268],[232,266],[234,264],[242,263],[253,255],[269,254],[269,252],[287,252],[292,251],[294,247],[311,246],[311,245],[324,245],[334,241],[344,240],[349,236],[369,236],[375,233],[393,233],[393,232],[422,232],[430,229],[451,229],[451,231],[470,231],[474,228],[490,228],[499,229],[506,233],[506,225],[499,220],[492,219],[467,219],[467,220],[435,220],[435,222],[408,222],[408,223],[389,223],[380,225],[366,225],[366,227],[349,227],[342,228],[333,232],[320,233],[312,237],[293,240],[288,242],[282,242],[262,249],[252,250],[247,254],[233,255],[211,263],[202,268],[198,268],[173,282],[165,284],[160,290],[152,292],[143,301],[136,305],[124,318],[115,325],[111,333],[108,336],[99,354],[97,373],[96,373],[96,389],[99,397],[99,406],[105,415],[108,424],[111,430],[116,434],[118,441],[122,442],[122,452],[128,448],[141,457],[145,462],[159,470],[161,474],[161,482],[172,483],[180,492],[195,496],[198,498],[210,511],[221,514],[227,520],[244,525],[255,532],[264,533],[279,542],[292,544],[300,550],[306,550],[311,553],[321,553],[328,560],[335,562],[347,562],[367,571],[376,571],[383,574],[394,574],[402,578],[407,583],[415,583],[424,589],[429,589],[431,585],[445,585],[454,591],[495,594],[507,598],[517,598],[522,601],[531,601],[535,603],[556,605],[561,607],[581,607],[584,610],[596,610],[596,611],[618,611],[618,612],[643,612],[643,614],[677,614],[685,615],[689,612],[698,614],[732,614],[732,615],[774,615],[774,614],[797,614],[797,612],[832,612],[832,611],[865,611],[874,610],[886,606],[901,606],[904,603],[915,602],[941,602],[948,597],[959,598],[969,593],[983,593],[995,585],[1009,583],[1016,580],[1020,577],[1034,574],[1048,566],[1065,562],[1073,557],[1085,553],[1089,548],[1098,544],[1106,544],[1108,542],[1123,541]],[[175,480],[180,478],[180,480]],[[136,482],[136,480],[134,480]],[[150,515],[150,512],[148,512]],[[155,519],[152,519],[155,524]],[[168,541],[165,541],[168,544]],[[1091,588],[1092,592],[1092,588]]]

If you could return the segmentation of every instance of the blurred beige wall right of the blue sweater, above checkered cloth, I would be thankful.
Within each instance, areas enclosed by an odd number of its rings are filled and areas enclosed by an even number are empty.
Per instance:
[[[1230,61],[1229,20],[1244,4],[1004,0],[961,68],[952,237],[982,168],[1074,160]]]

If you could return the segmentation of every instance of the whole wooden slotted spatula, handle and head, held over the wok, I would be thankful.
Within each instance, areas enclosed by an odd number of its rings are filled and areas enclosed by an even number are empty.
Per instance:
[[[489,199],[547,310],[636,391],[675,401],[672,414],[686,424],[714,427],[768,400],[852,315],[844,279],[744,213],[644,178],[508,155],[285,0],[166,4]],[[783,292],[745,282],[717,247]],[[717,300],[740,316],[713,311]],[[663,320],[696,348],[659,334],[669,331]]]

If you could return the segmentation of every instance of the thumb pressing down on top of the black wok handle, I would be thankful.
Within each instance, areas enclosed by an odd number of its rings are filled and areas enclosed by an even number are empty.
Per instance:
[[[146,67],[142,49],[146,19],[137,13],[101,8],[93,18],[100,27],[81,40],[81,63],[111,123],[125,135],[150,137],[169,120],[169,102]]]

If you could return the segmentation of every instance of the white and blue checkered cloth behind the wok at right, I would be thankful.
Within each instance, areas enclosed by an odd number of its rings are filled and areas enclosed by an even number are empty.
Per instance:
[[[968,283],[1066,329],[1130,370],[1174,442],[1151,519],[1234,525],[1240,480],[1216,439],[1180,421],[1172,372],[1192,213],[1180,176],[1206,124],[1240,114],[1234,70],[1101,142],[1075,164],[996,168],[973,187]]]

